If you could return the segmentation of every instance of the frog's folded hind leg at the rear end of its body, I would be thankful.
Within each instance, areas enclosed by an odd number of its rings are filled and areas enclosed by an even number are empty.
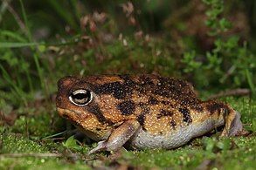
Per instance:
[[[239,112],[231,110],[225,117],[225,128],[221,136],[239,136],[245,132]]]

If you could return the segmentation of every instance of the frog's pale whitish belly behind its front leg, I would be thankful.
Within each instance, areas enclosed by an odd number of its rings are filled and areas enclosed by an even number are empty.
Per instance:
[[[135,149],[144,148],[175,148],[182,146],[187,143],[190,139],[197,136],[201,136],[204,133],[211,132],[212,129],[218,126],[223,126],[224,120],[219,120],[218,122],[208,119],[203,123],[198,123],[196,125],[184,126],[176,129],[176,131],[171,131],[166,135],[153,135],[147,133],[142,128],[138,130],[137,133],[129,140],[129,146]]]

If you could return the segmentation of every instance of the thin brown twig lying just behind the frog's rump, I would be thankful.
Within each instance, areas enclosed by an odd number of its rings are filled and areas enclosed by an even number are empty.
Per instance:
[[[208,99],[218,99],[227,96],[246,96],[249,94],[251,94],[251,91],[249,89],[232,89],[223,92],[218,92],[217,94],[213,94]]]

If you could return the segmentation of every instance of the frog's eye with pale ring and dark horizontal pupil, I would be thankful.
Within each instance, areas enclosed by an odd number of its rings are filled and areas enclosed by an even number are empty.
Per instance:
[[[92,92],[86,91],[84,89],[80,89],[72,92],[68,99],[74,105],[85,106],[92,101],[93,95],[92,95]]]

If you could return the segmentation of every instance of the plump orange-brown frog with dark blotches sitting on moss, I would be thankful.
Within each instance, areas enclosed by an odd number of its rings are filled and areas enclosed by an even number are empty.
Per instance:
[[[98,142],[88,154],[174,149],[220,126],[221,137],[243,130],[231,105],[203,101],[189,82],[155,74],[66,76],[58,81],[56,107]]]

